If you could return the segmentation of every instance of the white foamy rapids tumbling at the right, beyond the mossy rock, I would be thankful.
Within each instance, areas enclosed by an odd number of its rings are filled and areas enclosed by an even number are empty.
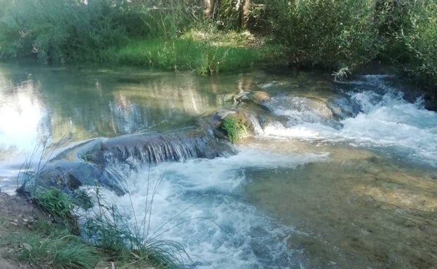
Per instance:
[[[366,76],[370,80],[372,76]],[[375,80],[382,83],[380,76]],[[364,80],[364,82],[366,82]],[[356,83],[363,87],[364,82]],[[370,80],[370,87],[376,87]],[[369,87],[369,85],[367,85]],[[387,148],[405,161],[417,161],[437,166],[437,113],[424,109],[418,99],[408,103],[401,92],[381,85],[373,90],[353,90],[349,99],[357,103],[361,112],[338,120],[326,114],[326,108],[303,107],[293,96],[274,98],[269,107],[277,115],[285,115],[289,122],[271,124],[263,136],[277,139],[323,140],[327,143],[346,142],[356,146]],[[308,99],[310,100],[310,99]]]

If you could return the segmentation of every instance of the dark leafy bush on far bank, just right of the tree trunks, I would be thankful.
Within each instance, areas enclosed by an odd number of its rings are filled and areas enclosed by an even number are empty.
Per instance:
[[[296,66],[355,68],[374,59],[373,0],[272,0],[266,3],[275,43]]]

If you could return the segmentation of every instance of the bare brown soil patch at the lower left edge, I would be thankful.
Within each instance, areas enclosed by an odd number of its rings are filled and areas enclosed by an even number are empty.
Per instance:
[[[43,212],[26,198],[0,193],[0,268],[34,268],[14,259],[13,254],[18,252],[22,246],[11,244],[8,238],[11,235],[20,235],[23,231],[28,231],[34,221],[45,218]]]

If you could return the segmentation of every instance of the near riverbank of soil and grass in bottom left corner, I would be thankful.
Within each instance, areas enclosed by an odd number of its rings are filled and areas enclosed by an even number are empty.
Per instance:
[[[160,268],[86,244],[33,200],[0,193],[0,268]],[[138,262],[139,261],[139,262]]]

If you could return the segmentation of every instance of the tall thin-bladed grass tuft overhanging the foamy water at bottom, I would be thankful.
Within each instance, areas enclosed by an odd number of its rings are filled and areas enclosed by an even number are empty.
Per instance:
[[[131,201],[133,224],[127,223],[127,213],[120,212],[116,205],[106,201],[97,185],[89,189],[95,206],[86,210],[81,220],[85,238],[104,249],[121,265],[128,264],[128,268],[140,268],[146,263],[156,268],[177,269],[192,263],[180,243],[158,240],[156,233],[150,231],[153,196],[159,182],[151,186],[150,194],[146,194],[150,200],[144,205],[142,214],[134,211]]]

